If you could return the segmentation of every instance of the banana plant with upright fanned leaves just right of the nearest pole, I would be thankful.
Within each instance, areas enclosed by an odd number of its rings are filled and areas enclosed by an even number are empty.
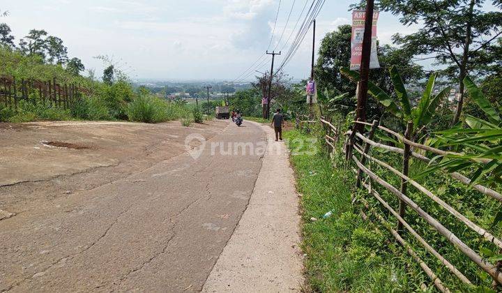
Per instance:
[[[342,68],[341,73],[353,82],[357,83],[360,80],[360,76],[357,71]],[[434,91],[436,77],[436,73],[429,77],[427,87],[425,87],[422,98],[416,107],[411,106],[412,103],[408,92],[406,91],[401,75],[395,66],[390,68],[390,78],[393,82],[397,99],[399,100],[399,106],[388,93],[380,89],[373,82],[368,82],[368,93],[370,93],[373,98],[378,100],[379,103],[385,107],[386,111],[390,112],[398,119],[401,119],[404,123],[413,123],[411,133],[413,136],[416,136],[431,122],[432,117],[434,116],[434,113],[441,101],[450,94],[450,87],[446,87],[436,96],[433,96],[432,93]]]

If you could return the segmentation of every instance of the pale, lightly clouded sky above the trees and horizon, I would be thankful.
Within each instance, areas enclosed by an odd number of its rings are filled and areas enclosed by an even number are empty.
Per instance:
[[[287,37],[296,35],[294,24],[306,1],[310,6],[312,0],[17,0],[2,1],[0,9],[10,14],[0,21],[10,26],[16,42],[30,29],[58,36],[68,56],[82,59],[96,76],[104,64],[94,57],[107,55],[132,79],[232,81],[267,49],[288,50]],[[350,23],[354,2],[326,1],[317,17],[317,48],[327,32]],[[378,38],[391,43],[394,33],[416,29],[381,13]],[[284,68],[294,79],[310,75],[311,42],[309,32]],[[270,70],[268,59],[257,69]]]

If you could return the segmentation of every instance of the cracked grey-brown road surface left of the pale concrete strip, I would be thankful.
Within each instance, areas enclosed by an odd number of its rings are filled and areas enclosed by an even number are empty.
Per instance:
[[[201,290],[248,205],[264,145],[256,124],[229,124],[197,159],[181,153],[0,220],[0,292]]]

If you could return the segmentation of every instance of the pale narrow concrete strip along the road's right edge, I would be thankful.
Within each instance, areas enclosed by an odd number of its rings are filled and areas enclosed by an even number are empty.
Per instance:
[[[284,142],[261,127],[268,147],[248,209],[202,292],[299,292],[303,286],[294,172]]]

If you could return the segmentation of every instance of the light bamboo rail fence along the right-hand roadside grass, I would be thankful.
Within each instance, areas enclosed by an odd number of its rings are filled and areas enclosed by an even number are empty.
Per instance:
[[[319,122],[326,131],[324,139],[328,150],[330,152],[336,151],[338,145],[337,142],[342,136],[342,134],[340,133],[340,126],[333,126],[330,121],[327,121],[324,118],[319,119]],[[309,122],[303,121],[297,123],[297,126],[301,127],[304,123],[309,124]],[[470,230],[477,233],[480,239],[484,239],[485,241],[493,243],[494,246],[502,251],[502,241],[498,237],[494,236],[489,231],[483,229],[476,223],[473,223],[472,220],[469,220],[469,218],[457,211],[453,206],[450,206],[449,204],[441,200],[441,198],[434,195],[431,190],[428,190],[424,186],[420,185],[420,183],[414,181],[409,177],[408,173],[410,160],[420,160],[427,164],[434,165],[434,162],[431,159],[427,158],[427,156],[424,156],[422,153],[428,152],[432,153],[434,156],[444,156],[448,152],[411,141],[411,124],[407,126],[406,133],[404,133],[404,135],[401,135],[400,133],[396,133],[393,130],[380,126],[379,121],[373,121],[373,123],[356,121],[354,122],[354,126],[356,126],[356,123],[369,128],[369,130],[365,133],[358,133],[358,131],[355,130],[357,129],[357,127],[353,127],[354,130],[349,130],[347,133],[343,134],[344,136],[346,136],[346,140],[344,142],[342,151],[345,154],[347,167],[350,167],[351,170],[355,173],[356,187],[367,189],[368,194],[372,195],[377,200],[377,202],[381,204],[381,207],[390,212],[390,214],[395,218],[396,223],[388,223],[388,221],[385,220],[378,211],[370,208],[370,204],[365,198],[360,200],[360,202],[362,202],[364,206],[363,211],[361,211],[361,216],[363,216],[365,220],[369,220],[367,213],[371,213],[374,218],[377,218],[379,221],[381,221],[383,223],[383,226],[385,226],[390,231],[397,242],[399,242],[404,247],[404,249],[411,255],[411,257],[413,257],[414,260],[416,260],[418,265],[432,280],[432,283],[434,283],[436,288],[441,292],[450,292],[450,290],[448,289],[448,287],[446,287],[446,285],[443,284],[441,279],[436,276],[436,273],[434,273],[434,271],[429,266],[427,266],[427,264],[422,259],[420,259],[418,253],[413,250],[409,243],[407,243],[406,240],[403,239],[402,235],[404,230],[407,230],[409,234],[413,236],[413,238],[416,239],[416,241],[418,241],[418,243],[420,243],[423,248],[425,248],[425,250],[427,250],[427,253],[429,253],[433,257],[436,257],[436,259],[439,260],[439,262],[443,264],[443,266],[445,266],[453,276],[456,276],[456,278],[466,284],[471,284],[471,280],[466,278],[466,276],[464,276],[464,273],[459,271],[459,269],[457,269],[451,262],[446,260],[446,258],[436,250],[437,248],[435,249],[429,243],[427,243],[423,236],[420,236],[420,234],[418,234],[418,232],[416,232],[416,230],[414,230],[413,227],[411,227],[411,225],[406,222],[406,215],[410,212],[410,210],[415,213],[414,215],[410,216],[418,215],[423,218],[423,220],[425,220],[430,227],[442,234],[442,236],[445,237],[446,241],[448,241],[452,246],[455,246],[455,248],[466,255],[466,257],[469,257],[469,259],[472,262],[476,263],[480,267],[480,269],[488,273],[494,281],[494,287],[501,285],[501,262],[498,262],[496,264],[488,262],[485,258],[476,253],[475,250],[467,246],[466,243],[459,239],[459,237],[457,237],[453,232],[448,230],[448,228],[440,223],[439,220],[431,216],[429,213],[427,213],[427,211],[425,211],[422,207],[416,204],[416,202],[413,202],[413,200],[411,200],[411,198],[407,196],[408,186],[411,185],[420,193],[427,195],[427,197],[429,197],[429,200],[434,201],[435,204],[441,206],[442,209],[450,213],[450,215],[454,216],[459,221],[459,223],[462,223]],[[387,133],[387,135],[389,135],[390,137],[395,137],[395,139],[404,144],[404,147],[400,148],[384,144],[383,142],[377,142],[374,139],[377,129],[379,131],[383,131],[383,133]],[[402,156],[401,170],[397,170],[390,164],[372,156],[370,154],[372,148],[397,153],[399,154],[399,156]],[[367,164],[367,162],[372,162],[372,165],[378,165],[379,167],[383,168],[383,170],[388,170],[390,171],[390,173],[395,174],[401,181],[400,186],[395,187],[382,179],[379,175],[377,175],[376,172],[374,172],[374,170],[370,169],[370,166],[369,164]],[[466,188],[471,183],[469,178],[462,174],[459,174],[458,172],[449,173],[448,175],[456,181],[464,184]],[[386,200],[384,200],[376,190],[376,186],[385,188],[391,195],[397,197],[397,200],[399,200],[399,206],[397,206],[397,208],[394,208],[393,206],[391,206],[391,204],[386,202]],[[483,195],[486,195],[487,197],[491,197],[492,200],[502,202],[502,195],[496,190],[492,190],[481,185],[474,185],[471,186],[471,188],[477,190]],[[353,202],[355,201],[356,199],[353,198]],[[498,289],[500,289],[500,287]]]

